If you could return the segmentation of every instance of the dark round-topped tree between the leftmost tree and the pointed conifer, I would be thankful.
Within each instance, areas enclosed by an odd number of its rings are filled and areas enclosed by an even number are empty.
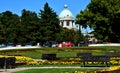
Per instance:
[[[22,43],[36,44],[39,42],[41,32],[39,31],[39,19],[35,12],[23,9],[21,16],[21,26],[21,38],[23,39],[21,40]]]

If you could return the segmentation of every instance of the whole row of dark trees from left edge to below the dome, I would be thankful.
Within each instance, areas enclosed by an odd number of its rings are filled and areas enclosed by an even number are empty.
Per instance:
[[[23,9],[21,16],[5,11],[0,13],[0,44],[14,45],[45,42],[79,42],[78,32],[64,29],[59,25],[58,15],[45,3],[39,14]],[[80,38],[79,38],[80,39]]]

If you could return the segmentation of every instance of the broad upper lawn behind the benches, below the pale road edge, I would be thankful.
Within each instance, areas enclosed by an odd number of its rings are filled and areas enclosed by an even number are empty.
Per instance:
[[[41,59],[43,53],[56,53],[57,57],[75,57],[78,52],[92,52],[93,55],[102,55],[109,51],[120,51],[120,46],[16,49],[0,51],[0,55],[23,55]]]

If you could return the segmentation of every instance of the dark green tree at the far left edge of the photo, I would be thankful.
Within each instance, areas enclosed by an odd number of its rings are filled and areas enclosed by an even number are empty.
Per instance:
[[[1,13],[0,22],[1,30],[3,29],[2,32],[4,32],[4,42],[2,43],[18,43],[19,16],[10,11],[5,11]]]

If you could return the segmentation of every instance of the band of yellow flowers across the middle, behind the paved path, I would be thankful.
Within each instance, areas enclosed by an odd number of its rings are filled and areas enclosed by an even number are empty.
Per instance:
[[[0,55],[0,58],[2,57],[11,57],[11,56],[2,56]],[[74,65],[74,64],[82,64],[80,62],[80,58],[69,58],[68,60],[59,60],[59,61],[47,61],[47,60],[41,60],[41,61],[35,61],[34,59],[26,56],[14,56],[16,58],[16,62],[25,62],[27,65],[43,65],[43,64],[49,64],[49,65]],[[92,62],[88,62],[88,64],[91,64]],[[97,64],[97,63],[95,63]],[[120,57],[113,57],[110,58],[110,65],[119,65],[120,64]]]

